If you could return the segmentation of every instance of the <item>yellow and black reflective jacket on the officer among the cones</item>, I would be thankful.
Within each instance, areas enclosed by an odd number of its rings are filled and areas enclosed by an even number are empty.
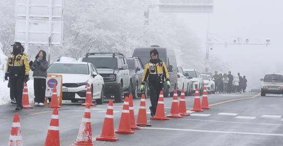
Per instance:
[[[149,78],[150,83],[163,83],[164,78],[169,81],[169,73],[164,62],[160,61],[158,63],[148,62],[145,65],[145,70],[143,78],[141,79],[141,84],[145,84],[147,78]]]

